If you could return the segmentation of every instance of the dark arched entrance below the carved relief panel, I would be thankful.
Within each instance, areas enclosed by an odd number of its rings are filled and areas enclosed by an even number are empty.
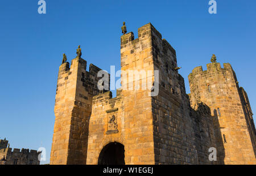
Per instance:
[[[120,143],[109,143],[102,149],[98,157],[100,165],[124,165],[125,147]]]

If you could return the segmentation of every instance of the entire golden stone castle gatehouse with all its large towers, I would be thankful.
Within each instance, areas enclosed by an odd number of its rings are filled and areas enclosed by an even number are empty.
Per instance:
[[[86,71],[79,49],[59,68],[51,164],[256,164],[249,99],[229,63],[194,68],[187,95],[174,48],[149,23],[136,39],[121,36],[121,70],[152,71],[146,79],[158,95],[122,77],[130,89],[112,98],[98,90],[101,69]],[[212,147],[217,161],[209,161]]]

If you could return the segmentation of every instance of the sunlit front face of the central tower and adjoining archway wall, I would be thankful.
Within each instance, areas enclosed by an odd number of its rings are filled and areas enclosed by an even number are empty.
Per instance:
[[[112,143],[121,146],[115,150],[121,151],[120,160],[124,159],[125,164],[155,164],[152,106],[151,97],[148,96],[151,91],[141,88],[135,90],[134,80],[129,79],[129,76],[134,78],[134,75],[128,74],[134,70],[154,70],[152,28],[151,24],[139,28],[139,38],[136,40],[132,32],[121,37],[121,70],[122,74],[126,71],[127,75],[122,75],[123,89],[117,92],[117,97],[112,98],[111,92],[93,97],[87,164],[108,163],[104,161],[104,148]],[[149,77],[152,80],[154,75]],[[140,76],[139,83],[142,78],[146,80],[147,75]],[[113,115],[116,126],[110,130],[109,119]],[[125,157],[122,151],[125,151]]]

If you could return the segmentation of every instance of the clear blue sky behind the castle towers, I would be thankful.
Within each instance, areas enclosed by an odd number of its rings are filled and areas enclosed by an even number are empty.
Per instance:
[[[122,22],[127,31],[152,23],[176,49],[180,74],[189,93],[188,74],[196,66],[229,62],[256,113],[256,1],[216,0],[0,2],[0,138],[11,147],[51,151],[57,73],[63,53],[68,62],[81,45],[82,58],[104,69],[120,68]],[[254,118],[255,119],[255,118]]]

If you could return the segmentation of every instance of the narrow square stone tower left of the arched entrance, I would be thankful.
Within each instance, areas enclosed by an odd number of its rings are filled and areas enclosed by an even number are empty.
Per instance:
[[[92,111],[92,97],[97,88],[98,71],[76,57],[59,68],[55,99],[55,126],[50,164],[86,164],[88,125]]]

